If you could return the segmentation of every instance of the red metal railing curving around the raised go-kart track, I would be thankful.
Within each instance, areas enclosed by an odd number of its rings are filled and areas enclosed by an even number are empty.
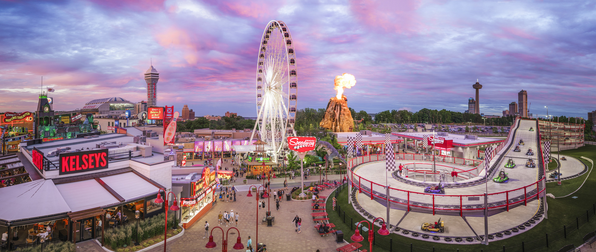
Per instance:
[[[516,120],[517,124],[517,120]],[[511,125],[511,128],[514,128],[516,124]],[[539,130],[538,130],[538,134]],[[511,140],[511,131],[507,137],[507,141],[493,150],[493,152],[498,153],[505,144]],[[538,143],[539,144],[539,143]],[[412,156],[410,160],[417,160],[415,159],[415,155],[417,154],[396,154],[396,155],[408,155]],[[541,154],[539,154],[541,155]],[[430,156],[430,155],[427,155]],[[493,155],[494,157],[494,155]],[[358,158],[352,159],[348,161],[348,166],[351,168],[354,165],[359,163],[365,162],[373,162],[378,160],[384,160],[384,155],[368,155],[368,156],[360,156]],[[449,158],[449,157],[446,157]],[[470,159],[464,159],[470,160]],[[544,160],[544,159],[543,159]],[[476,165],[477,160],[474,161],[474,165]],[[480,162],[479,165],[483,165],[483,162]],[[465,164],[464,164],[465,165]],[[468,165],[470,166],[470,165]],[[482,167],[482,166],[480,166]],[[473,169],[476,169],[474,167]],[[349,176],[350,182],[352,183],[353,187],[358,188],[359,192],[364,191],[364,193],[368,193],[371,196],[371,199],[377,197],[379,199],[387,200],[387,197],[384,194],[380,194],[377,192],[385,192],[384,185],[377,184],[373,181],[368,179],[362,178],[359,175],[356,175],[349,169]],[[513,190],[501,191],[498,193],[489,193],[487,194],[488,197],[488,209],[494,209],[498,207],[505,207],[507,211],[509,211],[510,206],[514,204],[522,203],[524,205],[527,204],[528,200],[533,198],[538,199],[539,195],[544,192],[545,188],[542,186],[542,180],[545,179],[544,177],[539,181],[533,182],[532,184],[526,185],[524,187],[516,188]],[[366,185],[370,185],[367,187]],[[460,216],[463,216],[464,211],[468,210],[483,210],[485,209],[485,205],[483,204],[484,194],[466,194],[466,195],[440,195],[440,194],[429,194],[429,193],[419,193],[415,191],[407,191],[401,190],[398,188],[389,187],[389,201],[402,204],[407,206],[408,211],[412,207],[419,207],[423,209],[432,209],[433,215],[436,210],[451,210],[451,211],[459,211]]]

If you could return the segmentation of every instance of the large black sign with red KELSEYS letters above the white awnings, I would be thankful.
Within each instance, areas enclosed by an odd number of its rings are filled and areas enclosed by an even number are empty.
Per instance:
[[[75,174],[108,168],[108,150],[60,153],[58,174]]]

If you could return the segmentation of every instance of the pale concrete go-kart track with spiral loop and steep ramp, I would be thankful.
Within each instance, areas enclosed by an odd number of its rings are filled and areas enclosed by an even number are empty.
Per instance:
[[[479,243],[485,234],[484,232],[484,193],[488,188],[488,234],[490,240],[499,240],[532,228],[544,218],[544,206],[541,197],[544,197],[544,165],[542,163],[542,147],[538,145],[540,139],[539,130],[529,131],[529,128],[539,128],[536,121],[517,119],[515,131],[511,131],[507,141],[496,147],[493,158],[489,160],[488,176],[485,176],[485,161],[477,165],[477,169],[470,169],[473,166],[456,164],[457,162],[436,162],[437,170],[440,166],[450,167],[453,171],[466,171],[464,180],[458,181],[451,176],[446,177],[448,182],[443,182],[453,187],[445,187],[445,194],[424,193],[423,184],[437,185],[440,177],[437,174],[426,174],[421,184],[412,183],[412,178],[402,179],[395,177],[392,171],[386,172],[384,157],[359,157],[349,162],[352,167],[350,180],[352,181],[354,196],[353,202],[357,210],[365,218],[386,216],[386,180],[390,185],[390,223],[398,224],[395,232],[420,240],[436,242],[454,242],[456,238],[463,243]],[[523,139],[522,152],[513,152],[514,147]],[[531,148],[535,155],[527,156],[526,150]],[[396,154],[400,156],[402,154]],[[382,156],[382,155],[381,155]],[[405,158],[405,156],[403,156]],[[527,159],[533,159],[536,168],[525,166]],[[556,158],[556,156],[555,156]],[[505,168],[508,159],[515,162],[514,168]],[[367,162],[371,160],[370,162]],[[399,160],[396,163],[412,163],[415,161],[418,171],[408,166],[403,176],[420,174],[420,168],[425,172],[432,172],[433,162],[428,160]],[[358,162],[358,163],[356,163]],[[364,162],[364,163],[362,163]],[[566,174],[565,167],[569,164],[572,169],[569,172],[581,172],[584,165],[579,160],[567,158],[560,161],[562,177],[572,175]],[[464,162],[465,163],[465,162]],[[581,169],[579,169],[581,167]],[[508,174],[508,180],[494,182],[493,178],[498,177],[499,171],[504,169]],[[447,169],[447,171],[451,171]],[[387,174],[387,175],[386,175]],[[395,172],[395,174],[399,174]],[[478,175],[476,175],[478,174]],[[437,176],[435,176],[437,175]],[[420,177],[420,175],[418,175]],[[469,177],[468,177],[469,176]],[[476,176],[476,177],[474,177]],[[546,174],[548,177],[548,174]],[[409,176],[410,177],[410,176]],[[439,178],[437,178],[439,177]],[[434,181],[437,182],[432,182]],[[462,185],[462,182],[471,181],[469,185]],[[484,182],[484,181],[488,181]],[[454,183],[458,183],[455,186]],[[373,195],[371,190],[373,188]],[[371,200],[373,199],[373,200]],[[421,224],[425,222],[434,223],[441,218],[445,222],[445,232],[430,232],[421,230]]]

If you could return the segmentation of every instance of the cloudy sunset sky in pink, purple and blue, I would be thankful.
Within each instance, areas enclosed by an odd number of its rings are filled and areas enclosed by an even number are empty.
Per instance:
[[[463,112],[478,78],[480,112],[500,115],[527,90],[530,113],[596,109],[594,1],[0,0],[0,112],[32,111],[44,87],[54,109],[92,99],[147,100],[197,116],[256,116],[257,52],[284,21],[296,48],[298,107],[324,108],[333,78],[356,111]]]

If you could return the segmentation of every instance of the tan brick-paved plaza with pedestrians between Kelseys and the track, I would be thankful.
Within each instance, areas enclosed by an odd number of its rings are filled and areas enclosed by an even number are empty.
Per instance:
[[[343,175],[341,176],[343,178]],[[299,177],[297,179],[291,179],[288,182],[300,182]],[[328,179],[339,179],[340,175],[328,175]],[[319,176],[312,176],[308,179],[308,182],[305,181],[305,184],[310,184],[311,181],[318,181]],[[272,188],[280,188],[283,184],[284,178],[275,178],[271,180]],[[258,184],[256,180],[250,179],[247,181],[247,184]],[[243,185],[243,179],[237,179],[237,182],[232,183],[232,185]],[[288,189],[291,189],[292,185],[288,185]],[[333,189],[327,189],[321,191],[322,196],[328,196]],[[287,191],[289,193],[289,190]],[[244,250],[234,250],[232,246],[236,242],[236,231],[231,229],[229,231],[228,237],[228,251],[246,251],[246,241],[247,238],[252,238],[253,248],[256,251],[256,199],[254,197],[246,197],[247,191],[238,192],[237,201],[236,202],[225,202],[225,201],[218,201],[215,206],[204,216],[201,220],[197,220],[191,228],[185,230],[185,234],[182,237],[177,238],[171,242],[167,242],[167,251],[172,252],[190,252],[190,251],[221,251],[222,249],[222,237],[221,231],[216,229],[213,231],[214,241],[217,244],[215,248],[205,248],[208,238],[203,239],[204,235],[204,222],[205,220],[209,222],[210,231],[213,229],[214,226],[218,226],[218,214],[221,211],[231,211],[234,210],[234,213],[238,213],[240,218],[238,220],[238,228],[240,230],[240,235],[242,238],[242,242],[244,244]],[[262,201],[262,200],[261,200]],[[265,199],[265,203],[267,200]],[[296,252],[315,252],[316,250],[322,251],[336,251],[336,248],[341,247],[343,244],[337,244],[335,242],[335,235],[329,234],[329,236],[320,237],[318,232],[316,232],[314,226],[314,222],[312,222],[311,217],[311,203],[312,201],[286,201],[285,195],[283,200],[280,203],[280,210],[275,210],[275,201],[271,199],[271,212],[272,216],[275,216],[275,222],[272,227],[268,227],[266,222],[262,222],[263,217],[265,216],[265,210],[259,210],[259,242],[262,242],[267,245],[267,249],[269,252],[272,251],[296,251]],[[268,206],[266,206],[267,208]],[[331,206],[330,206],[331,207]],[[331,208],[330,208],[331,209]],[[294,216],[298,215],[302,218],[302,232],[297,234],[295,232],[294,223],[292,220]],[[227,228],[225,225],[221,226],[224,231],[227,231],[228,228],[234,225],[229,225]],[[345,239],[345,237],[344,237]],[[100,252],[104,251],[100,245],[97,244],[95,241],[87,241],[77,244],[77,251],[84,251],[84,252]],[[153,248],[149,250],[151,252],[159,252],[163,251],[163,245]]]

